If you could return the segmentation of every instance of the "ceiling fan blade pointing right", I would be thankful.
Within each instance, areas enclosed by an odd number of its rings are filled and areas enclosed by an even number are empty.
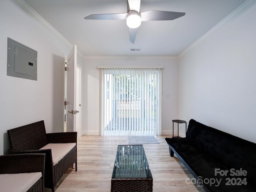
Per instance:
[[[185,14],[186,13],[183,12],[149,10],[140,13],[140,17],[141,21],[163,21],[174,20],[176,18],[184,16]]]

